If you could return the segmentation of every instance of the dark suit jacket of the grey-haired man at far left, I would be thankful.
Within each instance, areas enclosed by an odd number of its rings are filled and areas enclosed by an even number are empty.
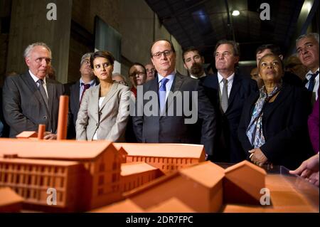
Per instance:
[[[48,104],[43,101],[40,91],[31,75],[26,72],[6,78],[3,88],[4,118],[10,127],[10,137],[23,131],[38,131],[39,124],[53,133],[58,127],[58,110],[63,85],[55,80],[46,79]]]

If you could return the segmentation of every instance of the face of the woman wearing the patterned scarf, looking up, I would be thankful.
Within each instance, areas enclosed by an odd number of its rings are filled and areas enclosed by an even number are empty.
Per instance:
[[[259,76],[263,82],[278,82],[283,75],[282,62],[275,56],[266,56],[259,63]]]

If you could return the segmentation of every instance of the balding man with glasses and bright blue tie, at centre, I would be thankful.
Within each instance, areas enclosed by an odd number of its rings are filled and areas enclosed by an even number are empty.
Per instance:
[[[138,90],[136,107],[139,108],[137,112],[142,112],[142,116],[136,114],[132,117],[137,141],[197,144],[199,143],[197,141],[198,134],[201,134],[201,144],[204,144],[206,154],[212,154],[215,137],[215,112],[208,97],[204,95],[199,81],[176,71],[176,51],[171,41],[161,39],[154,42],[151,45],[150,54],[157,73],[154,80],[149,80],[143,85],[143,94]],[[182,94],[181,100],[173,98],[174,95],[169,91]],[[143,96],[146,93],[156,95],[152,95],[151,100],[144,100]],[[156,103],[157,114],[155,115],[149,115],[144,111],[149,108],[149,105],[146,104],[149,104],[150,101]],[[193,107],[192,103],[198,103],[198,108],[193,111],[196,111],[198,118],[202,120],[201,132],[196,130],[195,123],[186,123],[186,119],[190,117],[186,112],[183,111],[179,115],[177,111],[173,111],[171,112],[173,114],[169,114],[169,110],[177,110],[179,106],[187,103],[189,107]]]

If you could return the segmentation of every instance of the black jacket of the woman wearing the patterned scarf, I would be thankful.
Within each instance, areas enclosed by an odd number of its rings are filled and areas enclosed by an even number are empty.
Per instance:
[[[258,98],[259,93],[252,94],[248,98],[240,120],[238,134],[246,152],[253,149],[245,131]],[[312,147],[306,123],[308,104],[305,102],[302,88],[283,83],[279,95],[270,108],[263,112],[262,130],[266,142],[260,149],[272,164],[295,169],[311,156]]]

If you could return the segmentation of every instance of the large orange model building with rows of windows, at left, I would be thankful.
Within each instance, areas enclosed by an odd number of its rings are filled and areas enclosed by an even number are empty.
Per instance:
[[[199,145],[178,146],[191,153],[183,159],[178,152],[178,157],[167,157],[168,152],[178,150],[175,144],[114,146],[107,141],[48,141],[35,139],[33,133],[28,135],[32,136],[31,139],[0,139],[0,187],[9,186],[16,191],[24,198],[23,207],[31,210],[89,211],[105,206],[123,199],[124,192],[163,175],[164,172],[157,166],[170,166],[170,169],[164,168],[165,172],[169,172],[183,165],[201,162],[204,155],[203,146]],[[158,151],[156,164],[149,159],[154,155],[154,147],[167,151],[162,156]],[[138,148],[144,152],[144,156],[140,153],[139,158],[146,159],[150,164],[124,163],[126,160],[133,161],[132,153]],[[131,150],[134,152],[129,155]],[[55,206],[48,205],[48,189],[56,190]]]

